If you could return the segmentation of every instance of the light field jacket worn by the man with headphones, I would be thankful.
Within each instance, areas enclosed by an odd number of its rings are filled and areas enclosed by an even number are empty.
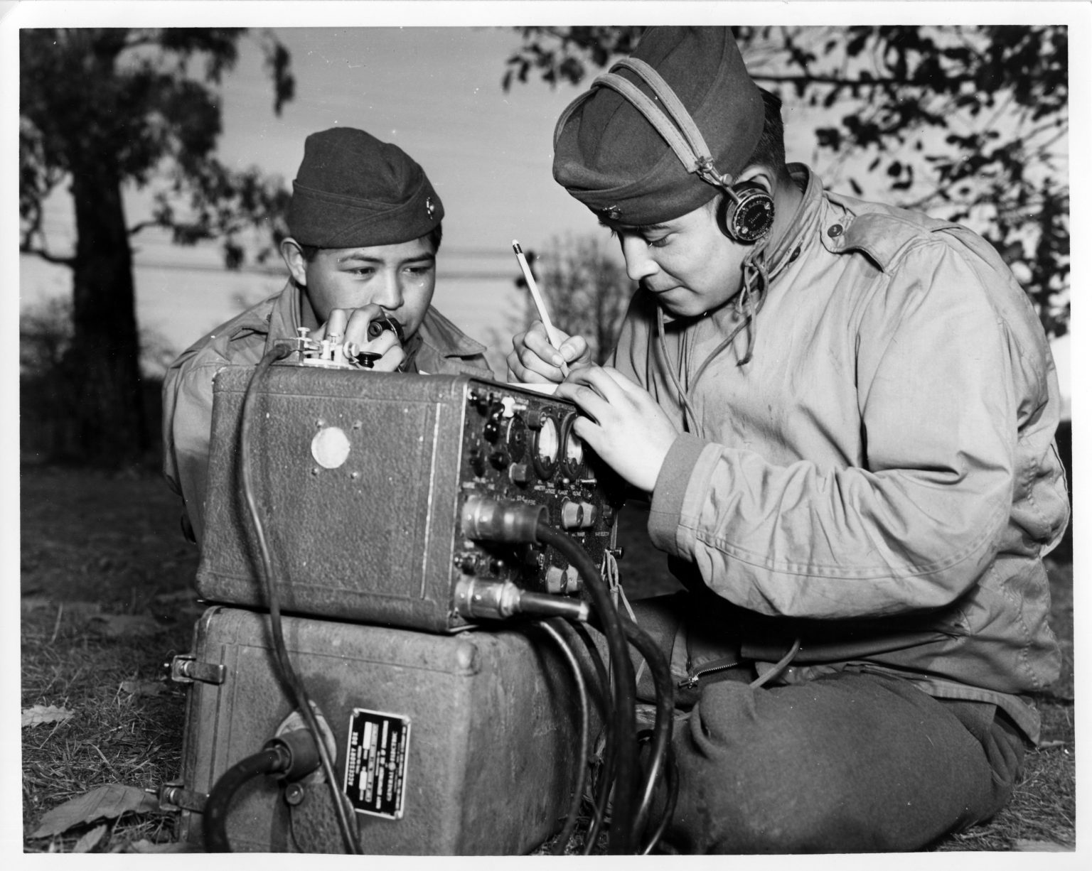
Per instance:
[[[785,680],[897,673],[1037,740],[1026,694],[1060,663],[1042,557],[1069,516],[1040,322],[976,234],[792,170],[806,192],[768,248],[750,338],[707,359],[732,305],[667,323],[665,346],[651,295],[626,317],[615,365],[681,430],[675,367],[696,417],[649,533],[685,584],[735,606],[745,656],[802,642]]]

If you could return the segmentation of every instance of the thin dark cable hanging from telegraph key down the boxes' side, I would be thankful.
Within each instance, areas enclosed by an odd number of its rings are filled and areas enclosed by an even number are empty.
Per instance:
[[[242,422],[239,430],[239,467],[242,474],[242,492],[247,500],[247,508],[250,511],[250,520],[251,523],[253,523],[254,535],[258,538],[258,547],[261,551],[262,581],[264,582],[265,596],[270,610],[270,629],[272,630],[273,636],[273,652],[276,656],[281,675],[288,684],[288,689],[292,691],[296,707],[298,708],[300,716],[304,718],[304,724],[307,726],[308,731],[311,732],[311,737],[314,738],[314,743],[318,745],[319,757],[322,762],[322,772],[325,775],[327,783],[330,787],[334,811],[337,816],[337,826],[341,830],[345,847],[349,854],[359,855],[360,846],[357,843],[356,834],[353,831],[353,826],[346,814],[344,803],[345,797],[337,787],[337,779],[334,776],[333,761],[330,759],[330,752],[327,749],[325,741],[322,740],[322,732],[320,731],[318,720],[314,717],[314,711],[311,708],[311,700],[308,696],[307,689],[304,687],[302,681],[300,681],[299,676],[293,668],[292,660],[288,658],[288,649],[284,644],[284,629],[281,624],[281,601],[277,595],[276,584],[273,581],[273,569],[272,561],[270,559],[269,545],[265,540],[265,530],[262,526],[261,516],[258,513],[258,505],[254,502],[254,492],[250,474],[250,422],[252,418],[252,415],[250,414],[250,406],[254,397],[254,387],[262,375],[269,370],[270,366],[277,360],[284,359],[289,354],[292,354],[290,345],[282,343],[274,345],[274,347],[262,357],[254,370],[254,373],[250,377],[250,381],[247,383],[247,392],[244,395],[242,409],[240,411]]]

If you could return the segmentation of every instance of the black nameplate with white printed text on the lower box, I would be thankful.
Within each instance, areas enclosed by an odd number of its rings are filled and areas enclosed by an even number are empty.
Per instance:
[[[357,813],[402,818],[408,761],[408,717],[354,708],[348,721],[345,795]]]

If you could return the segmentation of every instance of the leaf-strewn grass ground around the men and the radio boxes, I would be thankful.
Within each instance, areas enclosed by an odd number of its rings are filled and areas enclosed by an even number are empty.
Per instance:
[[[26,467],[21,481],[22,707],[66,708],[59,724],[23,729],[24,848],[29,852],[151,851],[174,839],[173,818],[130,813],[43,838],[43,816],[98,786],[155,789],[179,773],[185,694],[162,664],[189,649],[200,613],[190,594],[197,552],[178,533],[175,498],[154,475]],[[661,592],[662,556],[624,512],[631,596]],[[1072,571],[1052,569],[1063,679],[1040,700],[1043,744],[1029,753],[1010,806],[939,850],[1010,850],[1075,840]],[[97,834],[96,834],[97,833]],[[90,847],[88,847],[90,845]]]

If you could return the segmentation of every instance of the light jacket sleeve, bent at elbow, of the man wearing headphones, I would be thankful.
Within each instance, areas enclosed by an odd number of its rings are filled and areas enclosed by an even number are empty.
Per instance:
[[[856,331],[862,467],[779,466],[692,436],[664,463],[653,541],[737,605],[828,619],[936,608],[995,556],[1028,351],[968,259],[922,242],[900,260]]]

